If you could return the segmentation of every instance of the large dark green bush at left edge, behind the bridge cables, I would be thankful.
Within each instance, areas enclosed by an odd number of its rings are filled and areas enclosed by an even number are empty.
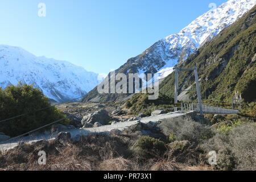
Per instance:
[[[65,117],[56,107],[49,106],[51,104],[48,98],[32,85],[22,85],[19,82],[17,86],[7,86],[5,90],[0,88],[0,120],[28,113],[0,123],[0,131],[15,137]],[[36,111],[44,107],[49,108]],[[65,119],[61,123],[68,122]]]

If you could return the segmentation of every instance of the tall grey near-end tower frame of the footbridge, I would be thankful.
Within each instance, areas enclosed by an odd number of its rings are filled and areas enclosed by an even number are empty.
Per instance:
[[[196,80],[197,100],[198,100],[198,104],[199,104],[200,115],[203,116],[203,106],[202,106],[202,101],[201,101],[201,92],[200,92],[199,78],[198,78],[198,72],[197,72],[196,66],[194,68],[184,68],[184,69],[175,68],[174,102],[175,102],[175,104],[177,104],[177,96],[178,96],[178,91],[179,91],[179,72],[181,72],[181,71],[194,71],[195,80]],[[183,91],[190,91],[190,90],[183,90]],[[174,107],[174,111],[177,111],[177,107]]]

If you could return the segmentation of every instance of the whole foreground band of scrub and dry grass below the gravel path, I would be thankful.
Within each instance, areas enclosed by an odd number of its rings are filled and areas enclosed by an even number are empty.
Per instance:
[[[20,143],[14,149],[0,151],[0,170],[255,171],[255,127],[255,123],[241,121],[219,132],[216,127],[187,118],[166,121],[161,126],[166,138],[124,131],[84,136],[79,141]],[[40,150],[47,154],[46,165],[38,164]],[[217,165],[208,163],[209,151],[216,151]]]

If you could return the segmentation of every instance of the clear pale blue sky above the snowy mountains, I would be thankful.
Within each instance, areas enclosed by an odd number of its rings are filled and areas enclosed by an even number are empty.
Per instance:
[[[1,0],[0,44],[108,73],[226,1]]]

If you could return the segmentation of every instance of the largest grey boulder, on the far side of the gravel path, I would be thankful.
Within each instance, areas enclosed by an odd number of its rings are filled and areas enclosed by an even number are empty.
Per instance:
[[[82,125],[85,123],[94,124],[95,122],[100,122],[102,125],[108,125],[110,121],[113,119],[109,116],[108,112],[106,110],[99,110],[94,113],[85,115],[82,118]]]

